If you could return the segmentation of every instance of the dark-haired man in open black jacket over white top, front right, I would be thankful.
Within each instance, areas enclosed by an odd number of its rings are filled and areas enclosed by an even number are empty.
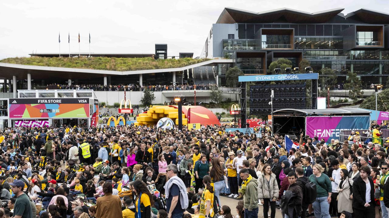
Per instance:
[[[374,185],[373,180],[368,175],[370,175],[370,168],[362,166],[359,168],[359,177],[352,184],[352,209],[354,210],[355,218],[375,217]],[[367,194],[366,184],[370,188],[370,192]]]

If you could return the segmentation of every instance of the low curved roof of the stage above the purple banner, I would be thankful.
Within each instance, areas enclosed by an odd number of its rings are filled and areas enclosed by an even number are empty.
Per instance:
[[[325,115],[369,115],[370,111],[359,108],[328,109],[280,109],[273,116],[325,116]]]

